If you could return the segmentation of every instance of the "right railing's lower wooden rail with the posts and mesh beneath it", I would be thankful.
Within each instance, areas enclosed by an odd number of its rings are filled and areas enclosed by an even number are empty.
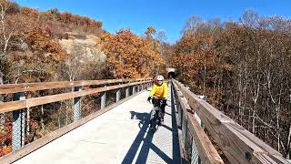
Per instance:
[[[224,163],[175,83],[172,83],[172,91],[176,100],[177,124],[182,130],[182,157],[188,163]]]

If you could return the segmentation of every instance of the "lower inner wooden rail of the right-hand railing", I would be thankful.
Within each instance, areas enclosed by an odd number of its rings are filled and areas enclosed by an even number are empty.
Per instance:
[[[204,130],[200,127],[196,118],[188,112],[191,108],[187,104],[186,98],[183,97],[182,92],[176,87],[176,84],[173,84],[176,90],[176,97],[178,98],[180,107],[184,115],[186,116],[187,125],[191,136],[194,138],[196,143],[196,148],[198,150],[199,158],[203,163],[224,163],[224,161],[219,156],[217,150],[212,145],[210,139],[207,137]]]

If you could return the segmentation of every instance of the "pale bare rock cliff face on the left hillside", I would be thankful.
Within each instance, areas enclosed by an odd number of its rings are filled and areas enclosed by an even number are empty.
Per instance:
[[[105,69],[105,54],[101,51],[100,38],[66,33],[66,38],[58,40],[66,51],[65,67],[61,70],[65,80],[99,79]]]

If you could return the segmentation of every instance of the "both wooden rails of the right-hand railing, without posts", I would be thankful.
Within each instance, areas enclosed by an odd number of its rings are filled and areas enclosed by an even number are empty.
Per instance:
[[[218,109],[200,99],[180,82],[173,80],[178,104],[187,118],[187,128],[198,146],[199,158],[204,163],[221,163],[206,135],[197,128],[194,114],[201,118],[209,134],[226,155],[230,163],[288,163],[282,155],[255,135],[226,117]],[[187,107],[188,105],[188,107]],[[187,111],[188,109],[188,111]],[[203,145],[204,144],[204,145]],[[212,152],[214,157],[209,155]]]

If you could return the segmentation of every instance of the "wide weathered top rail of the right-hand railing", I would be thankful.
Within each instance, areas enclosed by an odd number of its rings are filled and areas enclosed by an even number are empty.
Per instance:
[[[276,149],[198,98],[180,82],[174,80],[174,83],[186,97],[189,106],[202,119],[230,163],[288,163]]]

